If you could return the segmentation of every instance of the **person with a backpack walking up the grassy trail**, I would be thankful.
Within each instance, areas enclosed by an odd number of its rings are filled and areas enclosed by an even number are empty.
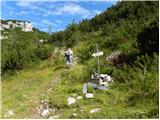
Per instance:
[[[73,64],[73,51],[71,48],[65,50],[65,61],[67,66],[71,66]]]

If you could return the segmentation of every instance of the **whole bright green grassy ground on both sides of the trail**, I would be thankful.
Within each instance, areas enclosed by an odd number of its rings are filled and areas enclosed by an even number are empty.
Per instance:
[[[58,57],[59,56],[59,57]],[[148,118],[157,105],[148,99],[130,105],[131,90],[126,83],[114,83],[108,91],[92,88],[93,99],[80,99],[72,106],[67,105],[69,96],[83,96],[82,86],[88,73],[86,66],[77,64],[72,69],[64,68],[63,57],[57,54],[53,61],[46,60],[39,66],[5,77],[2,81],[2,118],[8,110],[15,115],[10,118],[41,118],[37,108],[41,99],[49,99],[50,107],[57,108],[50,116],[59,118]],[[61,76],[60,82],[47,92],[52,82]],[[101,108],[91,114],[93,108]],[[77,116],[73,116],[76,113]],[[153,117],[153,116],[152,116]]]

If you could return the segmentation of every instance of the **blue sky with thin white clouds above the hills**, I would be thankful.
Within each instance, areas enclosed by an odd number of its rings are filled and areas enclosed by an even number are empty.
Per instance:
[[[1,18],[30,21],[41,31],[66,28],[72,21],[80,22],[100,14],[117,0],[2,0]]]

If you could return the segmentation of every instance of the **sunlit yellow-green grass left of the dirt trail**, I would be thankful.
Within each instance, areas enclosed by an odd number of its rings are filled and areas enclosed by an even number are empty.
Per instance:
[[[23,70],[2,79],[2,118],[8,110],[15,113],[11,118],[39,118],[40,100],[47,98],[47,91],[57,76],[52,61],[45,61],[36,68]]]

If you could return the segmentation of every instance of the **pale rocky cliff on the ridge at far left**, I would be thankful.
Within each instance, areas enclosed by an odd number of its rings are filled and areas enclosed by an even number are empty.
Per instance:
[[[33,26],[30,22],[27,21],[2,21],[0,22],[0,30],[6,30],[6,29],[15,29],[20,28],[24,32],[30,32],[33,29]]]

